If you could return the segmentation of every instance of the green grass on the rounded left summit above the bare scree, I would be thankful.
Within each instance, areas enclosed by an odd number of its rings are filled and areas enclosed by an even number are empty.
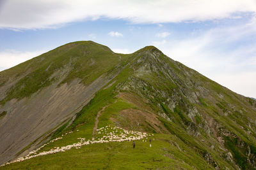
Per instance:
[[[38,90],[60,80],[61,74],[64,73],[67,76],[61,83],[70,83],[75,78],[80,78],[84,85],[88,85],[100,75],[113,70],[117,64],[122,65],[123,60],[128,58],[129,55],[117,55],[108,47],[92,41],[68,43],[1,72],[4,80],[8,76],[15,76],[19,81],[8,90],[7,96],[0,101],[0,104],[4,105],[14,98],[30,97]],[[28,66],[31,67],[26,70]],[[17,73],[15,71],[19,71],[20,74],[15,74]],[[26,72],[28,74],[24,76]],[[60,72],[58,76],[52,77],[58,72]]]

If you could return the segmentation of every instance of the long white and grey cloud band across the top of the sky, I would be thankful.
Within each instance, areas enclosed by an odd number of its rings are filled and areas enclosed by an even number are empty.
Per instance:
[[[218,20],[256,11],[255,0],[12,0],[0,9],[0,27],[12,29],[52,28],[81,20],[124,19],[133,23],[166,23]],[[152,12],[154,11],[154,12]]]

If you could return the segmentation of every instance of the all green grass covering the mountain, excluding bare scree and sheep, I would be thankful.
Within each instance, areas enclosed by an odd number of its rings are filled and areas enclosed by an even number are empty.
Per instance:
[[[157,59],[156,56],[150,57],[152,52],[160,53]],[[147,66],[146,71],[141,71],[140,68],[144,66]],[[0,86],[7,82],[8,77],[15,78],[17,83],[8,90],[7,96],[0,103],[3,105],[13,98],[30,97],[60,80],[58,76],[51,78],[52,74],[67,68],[70,70],[66,70],[65,78],[59,85],[70,83],[76,78],[88,85],[103,74],[108,74],[108,78],[118,74],[77,113],[70,126],[67,127],[69,122],[66,122],[56,127],[58,130],[52,134],[51,139],[73,132],[45,146],[42,151],[77,143],[77,138],[92,139],[95,117],[104,106],[107,107],[99,117],[99,128],[115,125],[110,118],[119,121],[117,124],[121,127],[129,127],[131,122],[122,117],[120,111],[142,111],[143,108],[118,97],[119,92],[131,92],[145,99],[143,103],[147,101],[145,104],[156,113],[159,122],[169,134],[156,134],[152,148],[142,141],[136,141],[134,150],[129,142],[94,144],[83,146],[79,150],[72,149],[65,153],[36,157],[0,169],[213,169],[214,166],[219,166],[220,169],[236,169],[234,164],[221,157],[227,152],[232,152],[234,161],[242,169],[252,168],[246,160],[246,152],[250,148],[252,155],[256,155],[256,138],[253,132],[255,126],[249,121],[256,118],[256,111],[253,110],[255,101],[241,97],[183,64],[169,59],[154,46],[124,55],[113,53],[108,47],[92,41],[68,43],[1,72],[3,79]],[[202,90],[198,87],[202,87]],[[192,94],[195,95],[195,101],[191,101]],[[175,108],[169,108],[171,102],[175,103]],[[194,108],[200,114],[196,113],[195,119],[191,120],[188,113]],[[240,110],[243,112],[240,113]],[[230,112],[225,116],[223,113],[227,111]],[[165,113],[172,122],[161,117],[161,113]],[[6,112],[1,113],[0,118],[4,115]],[[211,125],[207,121],[211,122]],[[248,127],[249,123],[252,128]],[[141,127],[144,131],[154,132],[154,127],[149,122],[145,121],[143,126],[146,126]],[[208,133],[207,129],[211,131]],[[250,135],[249,130],[252,131]],[[223,146],[216,139],[223,137],[221,131],[228,131],[231,136],[237,136],[237,139],[248,147],[237,147],[234,144],[237,143],[235,139],[227,138],[227,150],[222,150]],[[211,145],[214,145],[214,149]],[[212,162],[207,163],[205,157],[208,154],[211,155]],[[253,156],[250,159],[252,158]]]

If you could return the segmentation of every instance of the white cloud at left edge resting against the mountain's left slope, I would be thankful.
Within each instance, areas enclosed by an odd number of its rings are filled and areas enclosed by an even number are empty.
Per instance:
[[[17,64],[32,59],[33,57],[36,57],[44,52],[45,51],[18,52],[15,50],[6,50],[4,52],[0,52],[0,71],[16,66]]]

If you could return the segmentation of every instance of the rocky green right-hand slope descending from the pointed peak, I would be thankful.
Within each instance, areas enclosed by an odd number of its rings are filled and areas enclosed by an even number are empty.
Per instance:
[[[255,169],[255,101],[168,59],[152,46],[137,55],[141,57],[134,66],[139,69],[122,89],[147,99],[163,117],[166,129],[196,147],[212,166],[220,167],[217,156],[242,169]]]

